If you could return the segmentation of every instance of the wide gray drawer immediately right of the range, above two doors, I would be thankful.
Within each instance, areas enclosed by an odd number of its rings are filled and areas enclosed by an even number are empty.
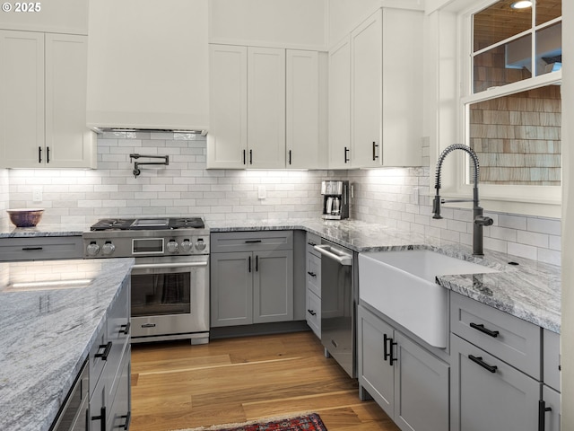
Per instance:
[[[212,253],[274,251],[293,248],[292,231],[212,233]]]

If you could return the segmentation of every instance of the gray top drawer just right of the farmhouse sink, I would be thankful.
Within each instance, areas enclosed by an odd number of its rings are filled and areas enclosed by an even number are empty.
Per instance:
[[[463,295],[450,295],[450,330],[541,380],[541,329]]]

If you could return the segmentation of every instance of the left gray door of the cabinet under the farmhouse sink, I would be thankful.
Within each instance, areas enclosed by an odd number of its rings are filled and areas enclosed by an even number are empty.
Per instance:
[[[385,353],[390,353],[388,339],[394,337],[394,332],[386,322],[358,307],[359,384],[391,418],[395,414],[395,367]]]

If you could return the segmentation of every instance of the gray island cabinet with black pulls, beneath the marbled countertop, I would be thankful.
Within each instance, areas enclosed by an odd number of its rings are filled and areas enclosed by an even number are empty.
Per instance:
[[[88,429],[129,429],[131,418],[131,349],[126,281],[89,355]]]

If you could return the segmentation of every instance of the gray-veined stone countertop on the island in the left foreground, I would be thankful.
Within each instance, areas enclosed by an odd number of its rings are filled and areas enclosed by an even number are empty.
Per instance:
[[[0,429],[49,429],[133,264],[0,263]]]

